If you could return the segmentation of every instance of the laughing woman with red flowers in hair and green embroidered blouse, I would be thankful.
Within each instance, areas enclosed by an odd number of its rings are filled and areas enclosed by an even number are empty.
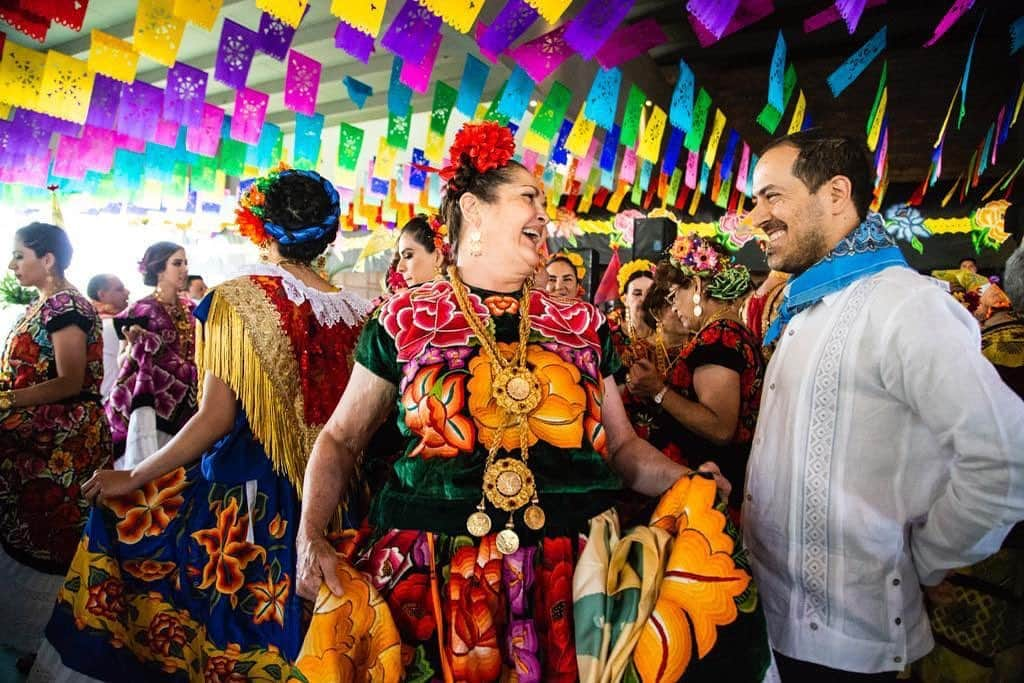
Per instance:
[[[578,582],[596,585],[608,572],[580,556],[589,527],[592,538],[607,540],[591,518],[609,514],[603,511],[623,481],[648,495],[693,486],[706,498],[691,518],[713,512],[715,481],[687,476],[631,429],[603,315],[532,289],[546,196],[513,153],[512,133],[497,123],[467,124],[456,135],[452,165],[441,171],[456,264],[447,280],[398,293],[367,323],[352,379],[313,447],[298,540],[299,592],[317,604],[300,660],[309,680],[352,680],[335,635],[362,637],[339,603],[350,566],[386,601],[401,636],[402,671],[382,671],[375,681],[597,680],[583,675],[578,657],[600,654],[594,637],[601,629],[593,625],[603,607],[595,596],[577,616],[573,605]],[[370,435],[395,404],[404,456],[374,499],[370,535],[339,560],[326,526]],[[716,561],[735,569],[731,549],[716,552]],[[750,584],[739,574],[727,582],[687,580],[690,594],[708,600],[708,616],[718,615],[701,617],[711,629],[701,647],[715,642],[719,625],[735,621],[734,598]],[[645,612],[634,611],[631,622],[638,629],[653,606],[649,591],[642,604]],[[658,628],[639,641],[643,654],[636,648],[635,667],[645,674],[662,664],[650,654],[662,652],[653,646]],[[692,645],[689,632],[672,633],[681,639],[677,652],[682,639]],[[629,651],[618,664],[634,666],[637,642],[623,642]]]

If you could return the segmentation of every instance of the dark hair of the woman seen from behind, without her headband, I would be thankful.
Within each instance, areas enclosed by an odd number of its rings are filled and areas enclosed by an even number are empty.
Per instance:
[[[309,225],[317,225],[331,214],[331,198],[324,186],[301,173],[285,171],[266,189],[263,217],[288,231],[299,230]],[[319,240],[301,244],[278,243],[278,252],[285,258],[309,263],[324,253],[338,237],[338,220]]]

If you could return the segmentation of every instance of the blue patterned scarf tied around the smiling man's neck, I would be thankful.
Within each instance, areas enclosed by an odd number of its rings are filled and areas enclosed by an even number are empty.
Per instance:
[[[778,316],[765,333],[764,345],[778,339],[782,328],[800,311],[861,278],[893,265],[909,267],[896,241],[886,231],[882,216],[867,214],[864,222],[843,238],[827,256],[790,281]]]

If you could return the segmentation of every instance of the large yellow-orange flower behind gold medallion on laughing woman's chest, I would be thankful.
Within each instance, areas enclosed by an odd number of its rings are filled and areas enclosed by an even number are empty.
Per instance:
[[[498,344],[499,351],[511,358],[516,344]],[[583,414],[587,408],[587,393],[580,385],[580,370],[562,360],[557,353],[537,345],[526,349],[526,365],[541,383],[541,402],[526,418],[529,428],[529,445],[543,439],[558,449],[578,449],[583,441]],[[480,430],[479,440],[489,446],[495,431],[502,425],[503,412],[492,394],[495,369],[486,354],[469,361],[472,379],[469,390],[469,412]],[[502,446],[508,451],[519,447],[517,429],[506,429]]]

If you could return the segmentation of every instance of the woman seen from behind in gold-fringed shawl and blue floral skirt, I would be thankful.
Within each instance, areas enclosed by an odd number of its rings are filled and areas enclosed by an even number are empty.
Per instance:
[[[68,669],[108,681],[293,677],[305,460],[369,312],[312,266],[339,214],[334,186],[310,171],[270,173],[243,195],[241,231],[267,260],[196,309],[196,416],[133,469],[97,471],[82,487],[95,507],[38,679],[74,677]],[[352,617],[374,620],[380,605],[356,597]]]

